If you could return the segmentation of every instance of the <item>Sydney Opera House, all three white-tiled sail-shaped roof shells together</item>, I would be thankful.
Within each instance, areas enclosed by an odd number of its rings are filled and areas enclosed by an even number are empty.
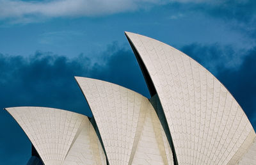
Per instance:
[[[214,75],[165,43],[125,35],[151,97],[75,77],[92,118],[6,108],[31,141],[28,164],[256,164],[255,131]]]

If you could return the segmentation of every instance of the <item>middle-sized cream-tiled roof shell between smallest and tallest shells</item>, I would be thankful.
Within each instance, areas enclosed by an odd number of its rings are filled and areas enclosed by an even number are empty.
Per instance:
[[[76,81],[92,110],[109,164],[173,164],[168,140],[147,98],[105,81]]]

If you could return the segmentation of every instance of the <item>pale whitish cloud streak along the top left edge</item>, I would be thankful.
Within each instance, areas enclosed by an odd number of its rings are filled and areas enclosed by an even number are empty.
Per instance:
[[[109,15],[143,8],[145,4],[161,4],[161,0],[0,0],[0,18],[75,17]]]

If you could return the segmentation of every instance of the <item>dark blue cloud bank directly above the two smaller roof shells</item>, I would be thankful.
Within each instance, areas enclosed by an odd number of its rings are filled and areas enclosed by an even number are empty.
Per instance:
[[[0,90],[5,93],[0,97],[0,106],[32,104],[84,113],[81,110],[84,99],[74,80],[75,75],[104,79],[147,95],[146,87],[143,91],[141,83],[133,82],[134,79],[143,80],[143,75],[130,50],[113,43],[102,54],[105,58],[97,63],[84,54],[76,58],[39,51],[29,57],[0,54]]]

